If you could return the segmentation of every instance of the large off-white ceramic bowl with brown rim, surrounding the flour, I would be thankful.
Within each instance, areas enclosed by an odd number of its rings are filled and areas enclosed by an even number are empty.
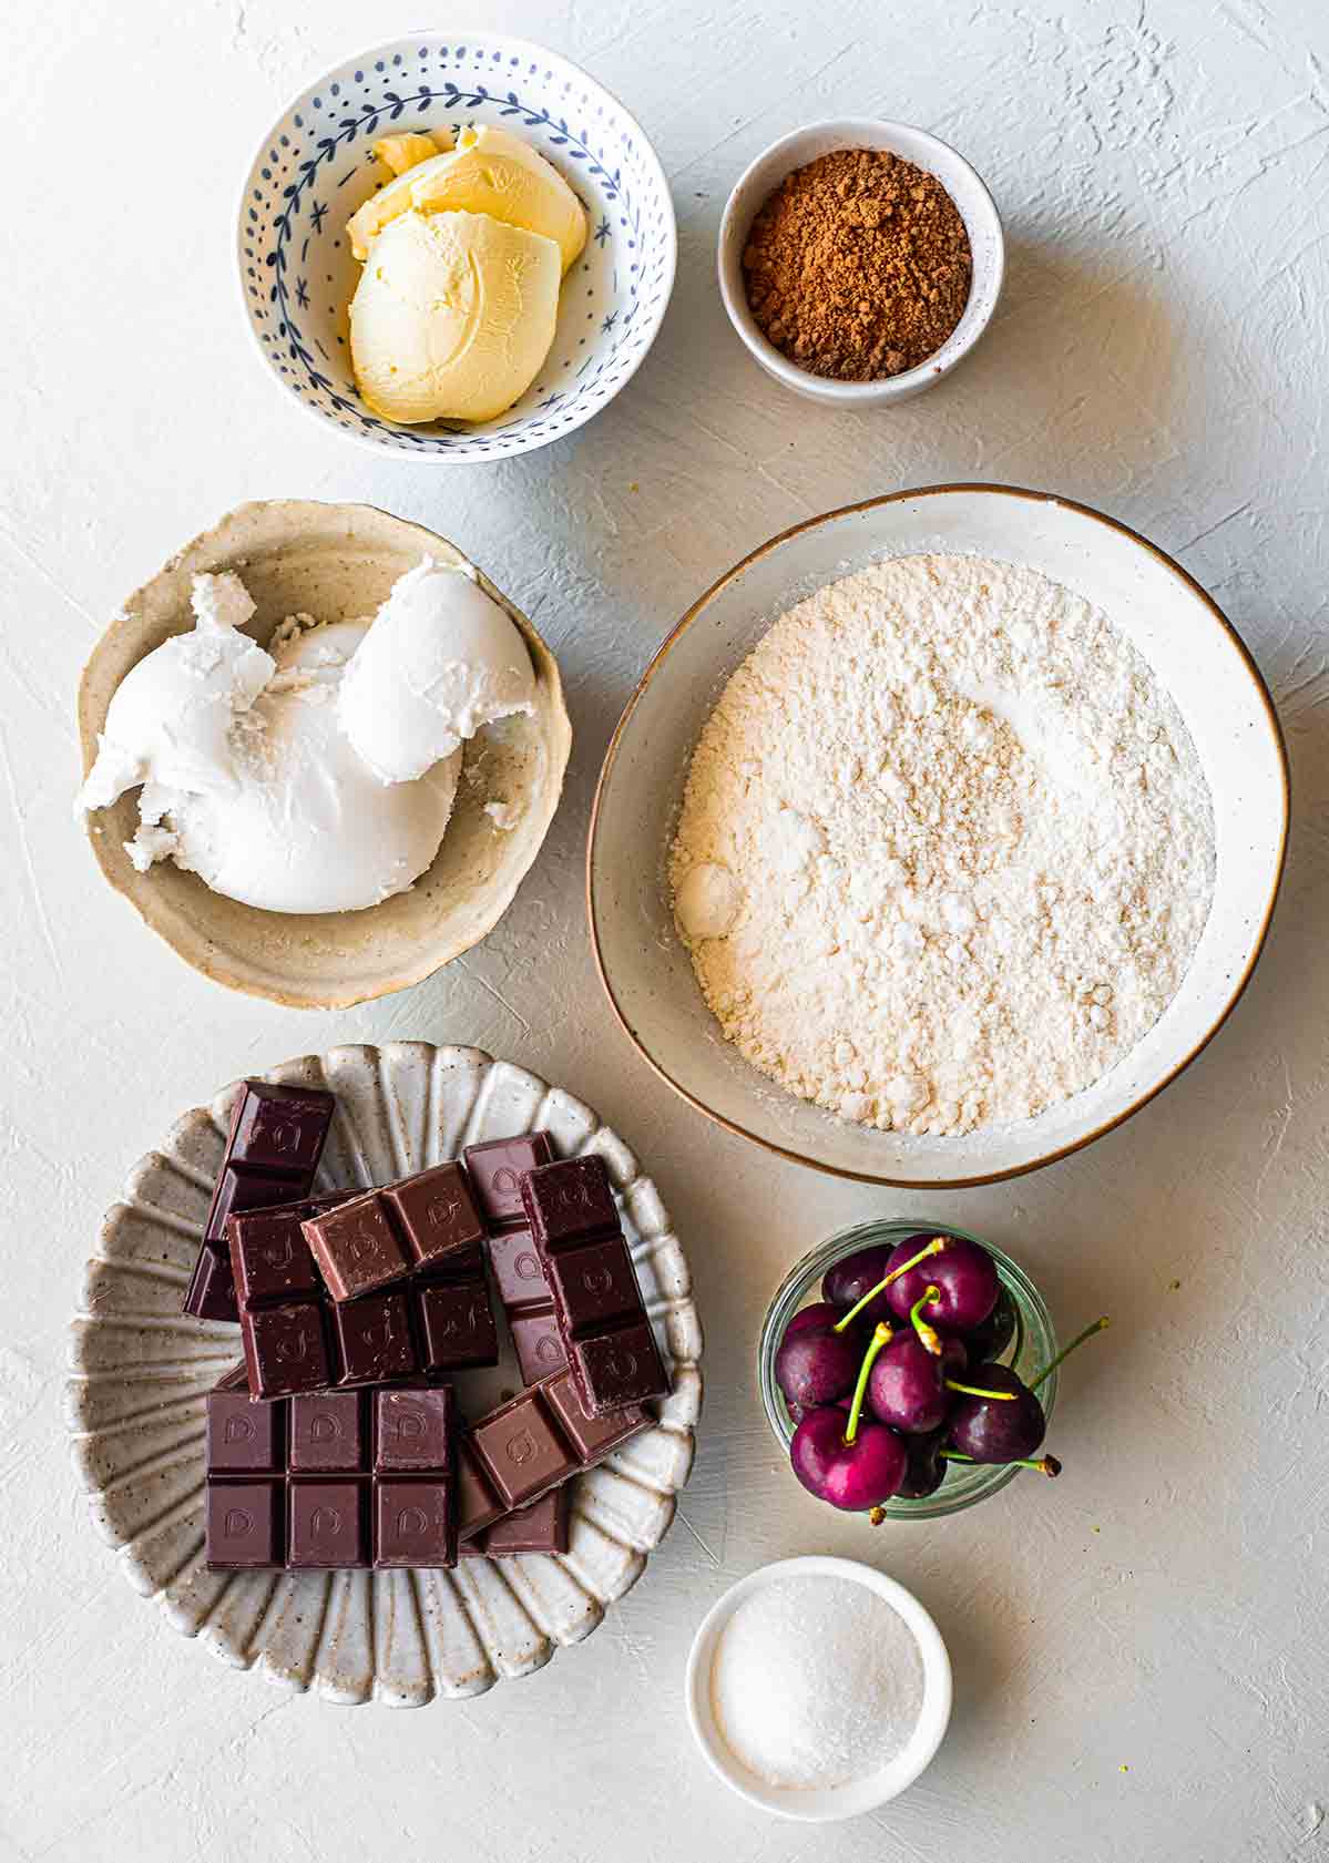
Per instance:
[[[1109,1073],[1034,1120],[966,1136],[878,1133],[794,1099],[721,1040],[675,933],[665,853],[697,734],[734,667],[792,602],[921,550],[1029,564],[1107,611],[1171,691],[1213,799],[1217,879],[1185,980]],[[651,1066],[731,1131],[844,1177],[900,1187],[1034,1170],[1137,1112],[1215,1034],[1273,913],[1288,827],[1282,736],[1251,656],[1185,570],[1126,525],[1012,486],[932,486],[785,531],[688,609],[628,702],[600,773],[587,892],[610,1000]]]

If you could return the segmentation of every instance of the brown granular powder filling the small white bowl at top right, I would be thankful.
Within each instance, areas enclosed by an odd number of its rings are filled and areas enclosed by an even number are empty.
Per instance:
[[[775,188],[744,250],[762,335],[813,374],[915,369],[964,315],[969,235],[926,170],[887,149],[820,155]]]

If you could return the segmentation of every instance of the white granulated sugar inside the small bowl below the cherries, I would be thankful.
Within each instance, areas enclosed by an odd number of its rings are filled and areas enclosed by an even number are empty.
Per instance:
[[[710,1707],[729,1751],[777,1787],[831,1787],[885,1766],[923,1712],[913,1632],[848,1578],[775,1578],[716,1645]]]

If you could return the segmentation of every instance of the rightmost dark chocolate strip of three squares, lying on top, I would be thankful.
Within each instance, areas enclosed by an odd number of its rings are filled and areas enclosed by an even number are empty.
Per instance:
[[[587,1153],[537,1164],[522,1176],[522,1207],[585,1408],[602,1416],[664,1395],[669,1375],[647,1319],[604,1159]]]

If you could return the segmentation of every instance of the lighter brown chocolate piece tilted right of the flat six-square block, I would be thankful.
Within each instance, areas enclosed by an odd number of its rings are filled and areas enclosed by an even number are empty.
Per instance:
[[[589,1416],[567,1367],[529,1384],[462,1436],[459,1539],[485,1533],[503,1515],[529,1507],[583,1468],[595,1468],[649,1423],[651,1414],[639,1405]]]

